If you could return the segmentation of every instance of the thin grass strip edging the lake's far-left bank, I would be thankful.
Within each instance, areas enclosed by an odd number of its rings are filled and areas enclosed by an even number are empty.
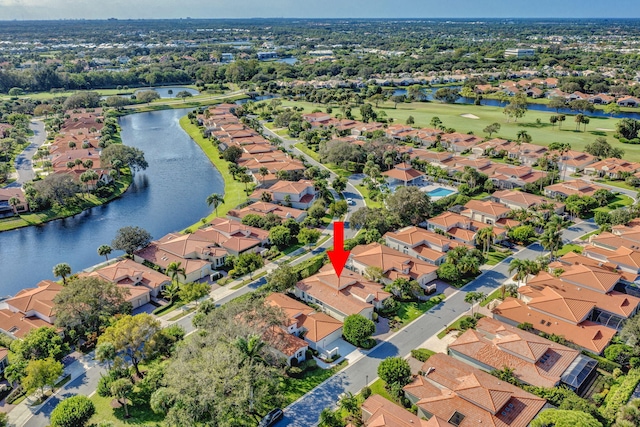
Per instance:
[[[77,215],[80,212],[96,206],[104,205],[120,197],[131,185],[131,173],[123,172],[120,179],[115,182],[116,191],[110,197],[97,197],[93,194],[79,195],[73,204],[67,206],[54,206],[41,212],[30,212],[18,216],[12,216],[0,220],[0,231],[13,230],[15,228],[38,225],[60,218]]]

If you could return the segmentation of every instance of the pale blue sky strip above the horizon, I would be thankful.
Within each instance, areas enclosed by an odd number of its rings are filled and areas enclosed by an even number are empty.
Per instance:
[[[7,19],[640,18],[638,0],[0,0]],[[1,27],[0,27],[1,30]]]

